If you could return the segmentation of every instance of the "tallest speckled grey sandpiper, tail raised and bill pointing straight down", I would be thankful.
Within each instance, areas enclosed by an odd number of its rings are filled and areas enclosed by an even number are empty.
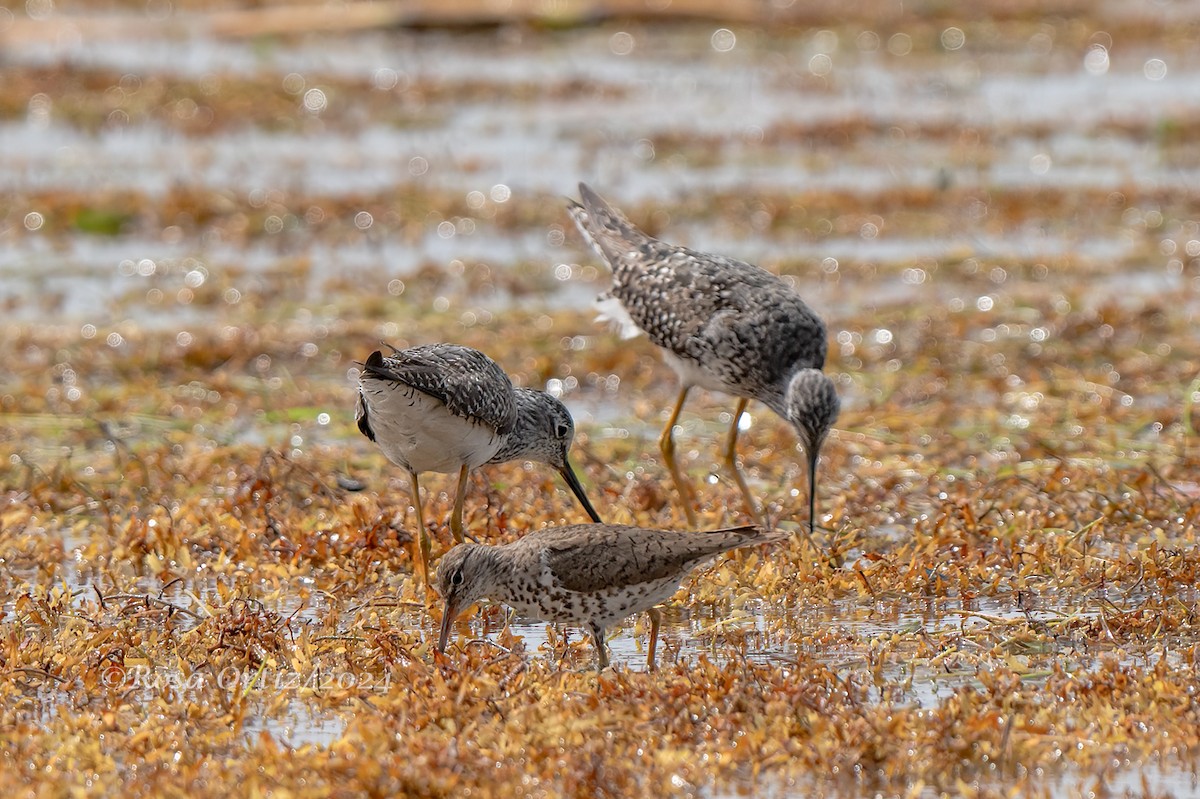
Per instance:
[[[695,497],[674,457],[674,426],[688,391],[701,386],[738,397],[725,449],[750,515],[762,522],[737,461],[738,422],[757,400],[792,422],[808,456],[809,533],[816,524],[816,468],[840,402],[821,370],[826,326],[776,275],[740,260],[659,241],[630,224],[584,184],[583,204],[569,211],[583,238],[612,270],[601,295],[605,316],[629,337],[646,332],[679,376],[679,397],[659,447],[688,516],[696,527]]]

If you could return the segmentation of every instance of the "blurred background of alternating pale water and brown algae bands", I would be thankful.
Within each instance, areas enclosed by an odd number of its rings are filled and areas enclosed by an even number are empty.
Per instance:
[[[1198,30],[1183,0],[7,2],[0,304],[586,306],[578,180],[826,313],[1190,292]]]

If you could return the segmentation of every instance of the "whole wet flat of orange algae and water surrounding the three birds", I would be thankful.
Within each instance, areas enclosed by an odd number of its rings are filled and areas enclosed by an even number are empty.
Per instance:
[[[1195,792],[1200,6],[138,40],[82,11],[0,13],[10,782]],[[815,546],[686,581],[655,672],[644,619],[598,675],[492,606],[436,657],[407,477],[354,427],[379,341],[559,394],[605,521],[684,524],[673,376],[593,320],[581,179],[826,318]],[[706,525],[745,521],[732,409],[677,433]],[[751,405],[742,452],[799,531],[794,433]],[[582,521],[550,469],[473,479],[480,540]]]

